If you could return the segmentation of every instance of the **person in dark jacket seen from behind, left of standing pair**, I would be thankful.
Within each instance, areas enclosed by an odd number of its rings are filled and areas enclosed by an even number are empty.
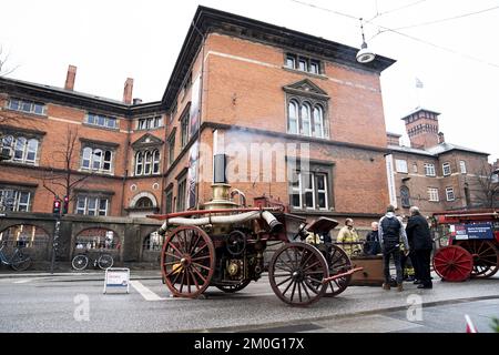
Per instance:
[[[385,216],[379,220],[378,236],[383,251],[383,265],[385,273],[383,290],[390,290],[390,257],[393,257],[395,270],[397,271],[397,291],[401,292],[404,290],[404,272],[400,264],[400,240],[404,243],[406,253],[409,252],[409,243],[407,241],[404,225],[395,215],[395,207],[393,205],[388,205]]]

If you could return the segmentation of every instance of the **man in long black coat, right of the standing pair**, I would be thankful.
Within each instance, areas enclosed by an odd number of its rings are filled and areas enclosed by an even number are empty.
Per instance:
[[[410,217],[407,222],[406,233],[410,248],[414,252],[416,263],[416,278],[420,282],[418,288],[431,288],[430,258],[434,247],[426,219],[416,206],[410,207]]]

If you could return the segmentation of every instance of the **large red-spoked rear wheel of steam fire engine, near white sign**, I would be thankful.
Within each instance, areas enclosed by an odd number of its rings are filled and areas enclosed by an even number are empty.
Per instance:
[[[215,247],[203,230],[184,225],[169,234],[161,255],[161,271],[172,294],[197,297],[210,286],[214,268]]]

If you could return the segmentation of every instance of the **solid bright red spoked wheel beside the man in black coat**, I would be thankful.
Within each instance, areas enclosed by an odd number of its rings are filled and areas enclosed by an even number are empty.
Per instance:
[[[472,267],[471,254],[460,246],[444,246],[434,255],[434,270],[445,281],[465,281],[470,277]]]

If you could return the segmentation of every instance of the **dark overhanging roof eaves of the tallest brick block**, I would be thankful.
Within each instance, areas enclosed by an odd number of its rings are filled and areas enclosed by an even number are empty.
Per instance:
[[[191,70],[191,64],[202,45],[203,37],[211,32],[223,32],[254,41],[272,43],[287,50],[297,49],[298,51],[316,53],[330,61],[376,73],[395,63],[394,59],[379,54],[376,54],[375,60],[369,63],[358,63],[356,54],[359,48],[200,6],[194,14],[163,94],[163,102],[167,108],[171,106],[176,98],[186,74]]]

